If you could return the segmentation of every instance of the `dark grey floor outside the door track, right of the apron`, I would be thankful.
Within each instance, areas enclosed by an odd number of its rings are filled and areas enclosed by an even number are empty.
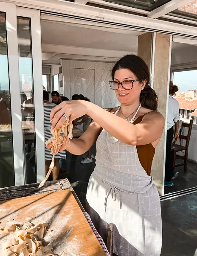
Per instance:
[[[161,202],[161,256],[197,256],[197,192]]]

